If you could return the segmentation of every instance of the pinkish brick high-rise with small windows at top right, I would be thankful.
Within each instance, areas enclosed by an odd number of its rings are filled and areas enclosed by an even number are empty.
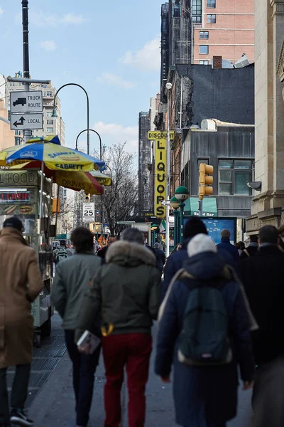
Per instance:
[[[192,0],[192,63],[208,65],[213,56],[236,63],[243,53],[254,61],[254,0]]]

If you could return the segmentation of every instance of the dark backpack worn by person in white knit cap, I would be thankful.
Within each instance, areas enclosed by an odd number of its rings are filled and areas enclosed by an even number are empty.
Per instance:
[[[190,288],[190,296],[180,333],[179,361],[200,367],[230,363],[228,315],[221,292],[225,283],[182,281]]]

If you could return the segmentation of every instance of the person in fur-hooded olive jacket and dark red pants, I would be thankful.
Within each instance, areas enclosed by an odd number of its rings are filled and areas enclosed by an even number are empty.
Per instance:
[[[143,427],[145,387],[152,350],[151,326],[157,317],[160,272],[155,255],[143,246],[143,233],[127,228],[122,240],[107,251],[84,297],[77,336],[93,327],[102,311],[102,349],[107,383],[104,386],[104,427],[121,426],[121,386],[124,367],[129,391],[129,427]]]

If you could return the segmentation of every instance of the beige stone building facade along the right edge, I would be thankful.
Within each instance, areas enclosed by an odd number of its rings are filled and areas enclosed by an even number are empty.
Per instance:
[[[256,172],[249,233],[284,222],[284,1],[255,1]]]

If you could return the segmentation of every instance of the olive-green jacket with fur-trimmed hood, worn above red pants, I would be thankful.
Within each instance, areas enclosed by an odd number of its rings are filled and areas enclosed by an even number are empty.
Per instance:
[[[155,255],[136,243],[119,241],[109,247],[106,261],[84,297],[79,329],[92,330],[102,310],[102,324],[114,325],[113,334],[151,333],[160,300]]]

